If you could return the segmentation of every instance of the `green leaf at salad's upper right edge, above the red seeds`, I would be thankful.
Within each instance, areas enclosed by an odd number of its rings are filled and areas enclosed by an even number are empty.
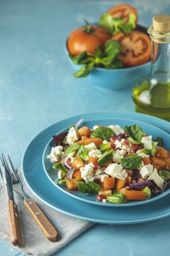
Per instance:
[[[128,132],[128,140],[134,144],[140,144],[143,137],[143,131],[142,128],[139,127],[137,124],[132,124],[130,127],[126,126],[125,131]]]

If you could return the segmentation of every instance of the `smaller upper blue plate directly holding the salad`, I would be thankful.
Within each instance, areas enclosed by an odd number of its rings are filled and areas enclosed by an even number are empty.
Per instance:
[[[104,121],[102,119],[99,119],[96,121],[84,121],[83,123],[83,125],[90,128],[93,128],[93,126],[96,124],[101,124],[104,126],[108,126],[109,124],[119,124],[120,127],[125,127],[126,125],[131,125],[131,124],[139,124],[139,126],[142,127],[144,132],[146,132],[148,135],[152,135],[153,140],[157,137],[163,138],[163,146],[169,149],[170,151],[170,135],[167,132],[164,132],[162,129],[159,129],[157,127],[154,127],[142,121],[136,121],[132,119],[130,120],[125,118],[108,118],[108,119],[104,119]],[[63,129],[63,131],[61,132],[66,132],[67,130],[68,130],[68,127],[66,127],[66,129]],[[47,146],[45,147],[45,151],[42,156],[43,167],[45,169],[45,172],[48,178],[50,178],[50,181],[52,181],[53,184],[56,187],[58,187],[58,189],[61,189],[61,191],[79,200],[85,201],[86,203],[93,203],[98,206],[109,206],[109,207],[139,206],[145,203],[151,203],[170,193],[170,189],[167,189],[166,192],[163,192],[160,195],[153,195],[150,198],[150,200],[132,201],[132,202],[123,203],[123,204],[112,204],[112,203],[101,203],[96,201],[96,195],[87,195],[87,194],[82,194],[79,191],[70,191],[69,189],[66,188],[64,184],[58,185],[58,181],[59,181],[57,176],[58,171],[53,169],[52,164],[50,163],[50,160],[47,159],[47,155],[50,154],[51,148],[53,146],[55,146],[55,143],[53,142],[53,139],[51,139],[50,142],[47,143]]]

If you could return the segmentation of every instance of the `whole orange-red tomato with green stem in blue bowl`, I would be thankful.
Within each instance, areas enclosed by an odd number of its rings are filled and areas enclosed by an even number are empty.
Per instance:
[[[94,53],[95,48],[110,38],[109,33],[100,26],[82,26],[72,31],[67,41],[69,53],[76,56],[83,51]]]

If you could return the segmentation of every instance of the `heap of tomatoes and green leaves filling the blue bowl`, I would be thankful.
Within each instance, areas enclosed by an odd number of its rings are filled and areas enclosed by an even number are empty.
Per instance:
[[[74,29],[67,39],[70,59],[81,65],[74,77],[85,78],[96,67],[135,67],[149,61],[150,37],[139,31],[137,20],[134,7],[119,4],[101,15],[97,24],[85,20],[85,26]]]

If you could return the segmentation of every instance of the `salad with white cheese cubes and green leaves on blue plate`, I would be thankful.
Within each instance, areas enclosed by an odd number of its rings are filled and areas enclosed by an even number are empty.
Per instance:
[[[47,158],[59,185],[118,204],[148,200],[169,187],[170,152],[161,138],[152,140],[137,124],[92,129],[81,124],[53,136],[56,146]]]

